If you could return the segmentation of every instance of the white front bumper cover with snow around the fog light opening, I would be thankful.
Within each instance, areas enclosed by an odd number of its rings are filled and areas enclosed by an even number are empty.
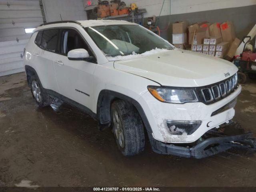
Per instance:
[[[212,116],[212,113],[234,100],[240,92],[241,86],[228,97],[210,105],[206,105],[202,102],[185,104],[164,103],[156,100],[149,92],[143,94],[138,102],[141,104],[148,118],[154,139],[165,143],[190,143],[198,140],[208,130],[234,117],[234,108],[230,108],[214,116]],[[167,126],[167,120],[200,120],[202,124],[190,135],[186,133],[173,135]]]

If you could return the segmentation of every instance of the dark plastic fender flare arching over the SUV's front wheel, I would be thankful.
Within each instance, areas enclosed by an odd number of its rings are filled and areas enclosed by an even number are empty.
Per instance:
[[[112,91],[112,90],[102,90],[98,96],[97,101],[97,120],[99,126],[110,126],[111,124],[111,103],[116,99],[122,99],[126,102],[130,102],[138,110],[140,117],[146,127],[148,133],[152,133],[151,126],[148,122],[148,118],[138,101],[124,94]]]

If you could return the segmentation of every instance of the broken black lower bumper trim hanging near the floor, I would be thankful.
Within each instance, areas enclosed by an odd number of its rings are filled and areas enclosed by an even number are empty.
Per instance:
[[[158,140],[155,140],[151,134],[149,134],[149,138],[154,152],[159,154],[170,154],[185,158],[206,158],[208,156],[224,152],[232,147],[245,149],[252,148],[254,150],[256,148],[255,141],[250,140],[250,138],[252,138],[252,133],[208,138],[203,142],[190,148],[160,142]]]

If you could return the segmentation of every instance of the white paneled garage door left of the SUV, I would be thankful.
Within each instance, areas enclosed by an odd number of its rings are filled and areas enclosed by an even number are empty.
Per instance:
[[[45,21],[41,0],[0,0],[0,76],[24,71],[23,49],[31,33]]]

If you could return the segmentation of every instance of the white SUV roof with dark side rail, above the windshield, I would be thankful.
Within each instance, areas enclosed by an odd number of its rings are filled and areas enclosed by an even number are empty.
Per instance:
[[[138,25],[136,23],[131,23],[122,20],[83,20],[83,21],[57,21],[44,23],[40,25],[38,28],[34,30],[34,32],[38,30],[54,28],[54,27],[68,27],[79,24],[82,27],[92,27],[92,26],[104,26],[104,25]]]

